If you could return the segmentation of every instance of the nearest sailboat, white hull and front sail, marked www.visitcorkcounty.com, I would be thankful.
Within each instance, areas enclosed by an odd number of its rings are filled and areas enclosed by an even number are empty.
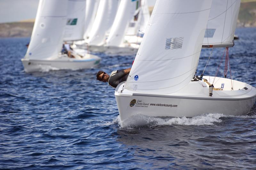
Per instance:
[[[228,78],[195,76],[211,5],[210,0],[156,1],[127,81],[115,90],[121,127],[147,123],[138,115],[250,111],[256,88]]]

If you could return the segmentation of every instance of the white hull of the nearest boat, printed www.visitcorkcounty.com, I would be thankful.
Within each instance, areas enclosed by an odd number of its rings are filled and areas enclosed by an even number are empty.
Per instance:
[[[227,87],[220,91],[214,90],[212,97],[203,81],[191,81],[185,88],[170,95],[141,94],[126,89],[121,93],[123,84],[120,84],[115,96],[121,126],[125,128],[147,123],[146,120],[139,120],[139,115],[193,117],[204,113],[247,114],[255,103],[256,89],[249,84],[233,81],[236,89],[228,90],[228,81],[231,82],[230,79],[219,78],[219,82]]]

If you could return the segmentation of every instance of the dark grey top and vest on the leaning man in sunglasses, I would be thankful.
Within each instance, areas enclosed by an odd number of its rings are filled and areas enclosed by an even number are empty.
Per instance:
[[[116,88],[119,83],[126,81],[128,75],[129,73],[125,74],[124,70],[113,71],[109,76],[108,84]]]

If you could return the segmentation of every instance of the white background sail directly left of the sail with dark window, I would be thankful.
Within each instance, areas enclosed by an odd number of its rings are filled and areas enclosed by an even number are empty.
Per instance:
[[[106,41],[107,46],[122,46],[125,30],[133,17],[135,5],[136,3],[134,1],[122,0],[120,2],[116,18]]]

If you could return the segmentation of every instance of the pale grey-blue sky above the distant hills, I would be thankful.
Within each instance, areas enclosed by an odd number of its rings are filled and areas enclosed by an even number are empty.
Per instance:
[[[36,18],[39,0],[0,0],[0,23]],[[148,0],[154,6],[156,0]]]

